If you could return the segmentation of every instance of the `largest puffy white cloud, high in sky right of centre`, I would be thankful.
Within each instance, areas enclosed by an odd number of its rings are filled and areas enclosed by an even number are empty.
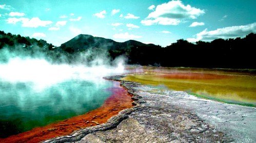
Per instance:
[[[151,25],[178,25],[182,19],[196,19],[204,14],[204,10],[183,5],[181,1],[170,1],[156,6],[155,11],[141,21],[145,26]]]

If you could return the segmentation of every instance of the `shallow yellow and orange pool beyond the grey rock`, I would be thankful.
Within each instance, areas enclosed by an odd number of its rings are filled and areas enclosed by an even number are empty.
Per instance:
[[[255,71],[203,68],[130,67],[127,81],[186,91],[194,96],[256,107]]]

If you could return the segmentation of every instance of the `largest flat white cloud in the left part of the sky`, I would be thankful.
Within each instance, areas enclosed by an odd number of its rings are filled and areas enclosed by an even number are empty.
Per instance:
[[[41,20],[38,17],[33,17],[31,19],[29,18],[8,18],[7,23],[11,24],[16,24],[16,22],[22,22],[22,27],[31,27],[31,28],[37,28],[37,27],[46,27],[52,23],[52,21],[46,21],[46,20]]]

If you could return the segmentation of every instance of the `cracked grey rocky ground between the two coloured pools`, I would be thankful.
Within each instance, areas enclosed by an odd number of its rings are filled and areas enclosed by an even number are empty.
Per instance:
[[[120,80],[122,76],[109,77]],[[45,142],[256,142],[256,108],[121,81],[134,105],[102,125]]]

